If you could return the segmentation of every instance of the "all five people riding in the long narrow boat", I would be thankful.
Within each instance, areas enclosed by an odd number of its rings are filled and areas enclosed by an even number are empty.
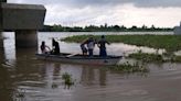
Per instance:
[[[105,35],[102,35],[99,41],[96,41],[93,36],[86,38],[81,43],[81,49],[84,56],[93,56],[94,55],[94,48],[97,44],[99,48],[99,56],[106,57],[106,44],[110,44],[108,41],[106,41]],[[42,54],[53,54],[53,55],[60,55],[60,45],[58,42],[56,42],[54,38],[52,38],[52,49],[45,45],[45,42],[43,41],[41,44],[41,52]]]

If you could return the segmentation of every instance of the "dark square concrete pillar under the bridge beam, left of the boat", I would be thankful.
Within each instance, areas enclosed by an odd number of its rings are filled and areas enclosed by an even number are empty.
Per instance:
[[[38,47],[36,30],[17,30],[15,47]]]

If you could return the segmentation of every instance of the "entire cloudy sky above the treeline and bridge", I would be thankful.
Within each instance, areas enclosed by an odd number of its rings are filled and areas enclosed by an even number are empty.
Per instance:
[[[45,24],[172,27],[181,21],[181,0],[8,0],[44,4]]]

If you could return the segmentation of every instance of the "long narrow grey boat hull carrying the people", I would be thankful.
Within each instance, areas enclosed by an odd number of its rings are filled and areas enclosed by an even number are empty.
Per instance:
[[[61,63],[71,63],[71,64],[85,64],[85,65],[116,65],[121,56],[83,56],[83,55],[73,55],[63,54],[63,55],[49,55],[49,54],[36,54],[38,59],[43,60],[53,60]]]

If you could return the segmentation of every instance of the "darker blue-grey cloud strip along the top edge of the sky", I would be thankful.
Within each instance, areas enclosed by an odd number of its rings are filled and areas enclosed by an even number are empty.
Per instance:
[[[156,7],[181,7],[181,0],[8,0],[8,2],[18,3],[36,3],[36,4],[60,4],[74,8],[84,7],[113,7],[132,3],[140,8],[156,8]]]

